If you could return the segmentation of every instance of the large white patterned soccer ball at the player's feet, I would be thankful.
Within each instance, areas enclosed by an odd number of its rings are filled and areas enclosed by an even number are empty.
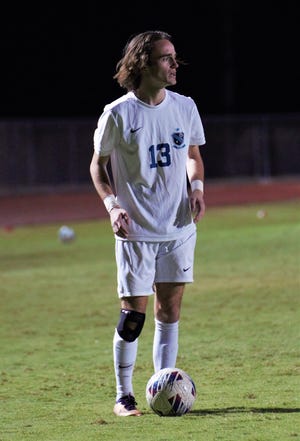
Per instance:
[[[147,403],[159,416],[184,415],[192,409],[195,399],[195,383],[182,369],[161,369],[146,386]]]

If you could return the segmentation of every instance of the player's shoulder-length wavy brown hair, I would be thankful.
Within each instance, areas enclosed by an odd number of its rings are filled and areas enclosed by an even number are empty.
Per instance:
[[[123,57],[117,63],[114,79],[127,91],[135,90],[141,81],[141,72],[150,63],[153,44],[158,40],[172,41],[164,31],[146,31],[135,35],[126,44]]]

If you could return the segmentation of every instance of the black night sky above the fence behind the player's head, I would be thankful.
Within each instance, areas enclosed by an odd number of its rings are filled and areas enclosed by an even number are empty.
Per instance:
[[[169,32],[201,114],[300,111],[297,1],[36,2],[1,12],[0,117],[98,116],[128,38]]]

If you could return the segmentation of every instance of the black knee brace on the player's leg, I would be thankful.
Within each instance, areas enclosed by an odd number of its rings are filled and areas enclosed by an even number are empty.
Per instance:
[[[117,326],[118,334],[123,340],[133,342],[142,332],[146,315],[142,312],[121,309]]]

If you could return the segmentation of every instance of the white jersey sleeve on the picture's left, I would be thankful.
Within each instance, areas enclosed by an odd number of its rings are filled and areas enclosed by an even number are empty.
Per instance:
[[[100,156],[109,156],[115,146],[119,144],[119,140],[116,119],[110,110],[106,110],[100,116],[94,132],[94,150]]]

